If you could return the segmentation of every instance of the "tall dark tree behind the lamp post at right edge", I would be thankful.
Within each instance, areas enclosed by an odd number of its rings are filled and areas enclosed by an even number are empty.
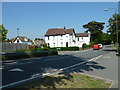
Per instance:
[[[117,16],[117,18],[116,18]],[[117,27],[116,27],[116,22],[117,22]],[[114,14],[112,17],[108,20],[109,23],[109,28],[108,28],[108,33],[110,33],[112,37],[112,41],[114,43],[117,42],[117,32],[118,32],[118,43],[120,46],[120,14]],[[116,31],[117,30],[117,31]]]

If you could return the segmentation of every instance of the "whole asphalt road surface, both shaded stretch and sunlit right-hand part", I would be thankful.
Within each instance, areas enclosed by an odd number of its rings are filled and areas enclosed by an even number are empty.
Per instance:
[[[118,87],[118,58],[115,52],[105,46],[101,50],[59,52],[50,57],[31,58],[3,62],[2,88],[19,85],[33,77],[68,69],[113,81],[113,88]]]

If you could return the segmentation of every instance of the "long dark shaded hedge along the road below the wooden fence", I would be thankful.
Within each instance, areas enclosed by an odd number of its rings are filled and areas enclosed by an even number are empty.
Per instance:
[[[2,60],[42,57],[42,56],[51,56],[51,55],[58,55],[58,52],[56,50],[51,50],[51,51],[5,53],[2,54]]]

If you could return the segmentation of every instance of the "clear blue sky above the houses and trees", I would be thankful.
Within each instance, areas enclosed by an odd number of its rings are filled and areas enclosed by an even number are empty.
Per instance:
[[[105,12],[105,8],[118,8],[117,2],[3,2],[2,23],[8,29],[8,38],[20,36],[31,39],[44,38],[49,28],[74,28],[77,33],[84,32],[83,25],[90,21],[105,22],[114,14],[114,10]],[[107,28],[104,29],[106,31]]]

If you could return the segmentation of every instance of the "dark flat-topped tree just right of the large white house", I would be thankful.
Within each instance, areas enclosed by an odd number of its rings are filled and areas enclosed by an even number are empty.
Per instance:
[[[104,22],[91,21],[88,24],[83,25],[83,28],[87,29],[86,31],[91,32],[91,41],[96,41],[96,43],[99,43],[99,35],[102,33],[104,24]]]

